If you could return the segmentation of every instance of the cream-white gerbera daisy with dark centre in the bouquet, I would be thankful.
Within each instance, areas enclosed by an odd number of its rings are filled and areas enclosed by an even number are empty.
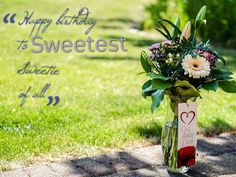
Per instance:
[[[186,55],[182,62],[184,74],[193,78],[206,77],[210,74],[210,63],[203,57],[193,58],[190,54]]]

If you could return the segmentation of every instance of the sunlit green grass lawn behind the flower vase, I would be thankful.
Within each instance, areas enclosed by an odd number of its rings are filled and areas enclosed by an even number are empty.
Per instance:
[[[50,53],[32,54],[17,51],[16,40],[29,39],[29,27],[1,24],[0,28],[0,161],[31,162],[39,156],[64,153],[87,155],[107,149],[123,148],[149,137],[159,137],[165,105],[154,114],[150,100],[140,94],[147,79],[136,75],[142,71],[139,53],[159,41],[158,33],[143,33],[131,27],[144,18],[145,0],[113,1],[9,1],[1,4],[1,14],[24,10],[38,17],[56,18],[66,7],[71,14],[88,6],[97,20],[89,34],[94,39],[124,36],[127,53]],[[47,4],[47,5],[45,5]],[[125,5],[124,5],[125,4]],[[79,27],[80,28],[80,27]],[[84,28],[51,26],[44,39],[86,39]],[[221,50],[236,73],[236,51]],[[25,62],[56,65],[59,76],[18,75]],[[47,95],[59,95],[58,106],[46,106],[47,99],[28,98],[19,107],[20,92],[31,85],[32,92],[51,83]],[[236,128],[236,95],[203,92],[199,100],[199,132],[207,135]]]

